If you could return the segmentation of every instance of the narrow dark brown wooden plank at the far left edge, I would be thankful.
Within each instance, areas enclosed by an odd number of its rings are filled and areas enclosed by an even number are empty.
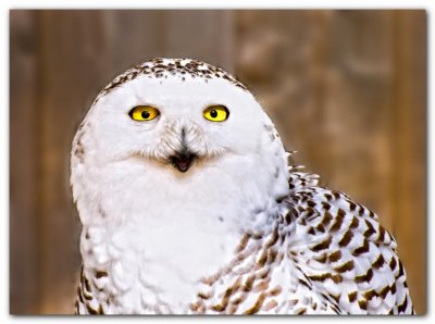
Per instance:
[[[37,311],[37,33],[35,12],[10,12],[10,313]]]

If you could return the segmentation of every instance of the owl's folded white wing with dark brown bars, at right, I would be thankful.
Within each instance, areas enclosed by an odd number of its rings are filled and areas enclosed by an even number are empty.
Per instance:
[[[291,172],[289,185],[288,254],[302,284],[348,313],[413,313],[396,241],[376,214],[314,175]]]

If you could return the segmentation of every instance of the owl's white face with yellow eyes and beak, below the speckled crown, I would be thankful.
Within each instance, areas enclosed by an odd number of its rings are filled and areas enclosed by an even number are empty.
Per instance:
[[[261,154],[270,132],[249,91],[189,75],[138,76],[100,98],[86,120],[99,164],[144,159],[178,173],[222,157]]]

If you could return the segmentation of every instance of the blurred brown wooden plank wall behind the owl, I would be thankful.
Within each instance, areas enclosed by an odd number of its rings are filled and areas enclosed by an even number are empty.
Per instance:
[[[235,74],[295,162],[378,213],[426,312],[425,11],[10,12],[10,312],[71,313],[75,130],[99,90],[154,57]]]

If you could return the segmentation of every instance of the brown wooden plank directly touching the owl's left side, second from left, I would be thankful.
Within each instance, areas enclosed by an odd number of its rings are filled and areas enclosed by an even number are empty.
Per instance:
[[[69,185],[70,150],[80,120],[103,86],[107,39],[101,12],[40,11],[38,15],[39,311],[72,313],[80,263],[80,226]]]

